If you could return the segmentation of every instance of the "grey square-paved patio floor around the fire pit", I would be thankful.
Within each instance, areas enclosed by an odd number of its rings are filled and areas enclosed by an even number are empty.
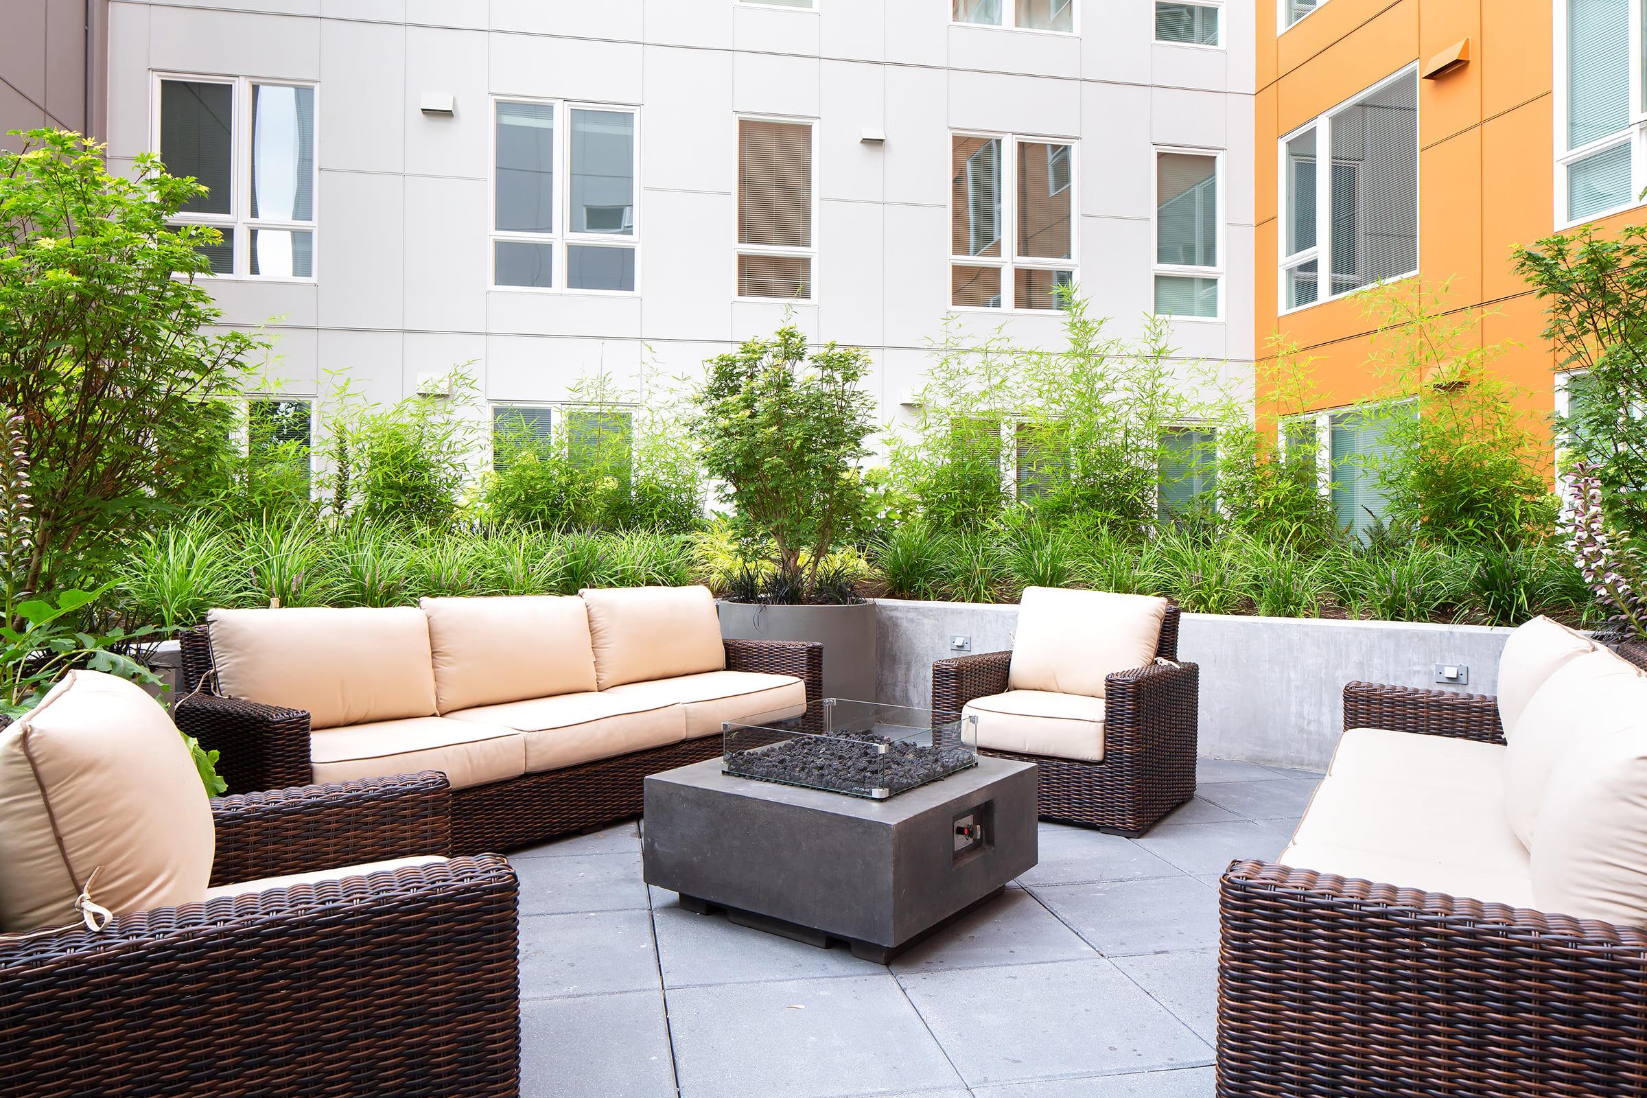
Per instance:
[[[530,1098],[1212,1093],[1217,874],[1275,858],[1319,775],[1204,759],[1141,840],[1041,825],[1041,864],[881,966],[695,915],[634,823],[517,853]]]

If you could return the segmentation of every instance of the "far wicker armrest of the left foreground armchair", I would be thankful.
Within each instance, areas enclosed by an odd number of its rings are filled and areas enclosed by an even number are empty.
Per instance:
[[[451,853],[451,790],[425,770],[212,802],[212,884]]]

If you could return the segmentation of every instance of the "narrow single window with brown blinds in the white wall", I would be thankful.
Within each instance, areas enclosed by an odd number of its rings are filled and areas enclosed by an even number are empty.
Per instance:
[[[740,298],[810,301],[817,257],[814,122],[738,119]]]

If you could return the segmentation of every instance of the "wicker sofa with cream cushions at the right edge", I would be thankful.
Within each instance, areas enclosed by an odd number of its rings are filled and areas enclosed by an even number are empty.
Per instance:
[[[1497,698],[1344,688],[1291,846],[1220,884],[1220,1096],[1647,1093],[1647,647],[1556,630]]]

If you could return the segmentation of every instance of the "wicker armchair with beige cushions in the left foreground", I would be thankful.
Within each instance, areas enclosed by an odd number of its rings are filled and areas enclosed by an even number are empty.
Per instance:
[[[0,733],[0,1095],[512,1098],[517,882],[443,856],[448,807],[208,802],[153,700],[71,673]]]

